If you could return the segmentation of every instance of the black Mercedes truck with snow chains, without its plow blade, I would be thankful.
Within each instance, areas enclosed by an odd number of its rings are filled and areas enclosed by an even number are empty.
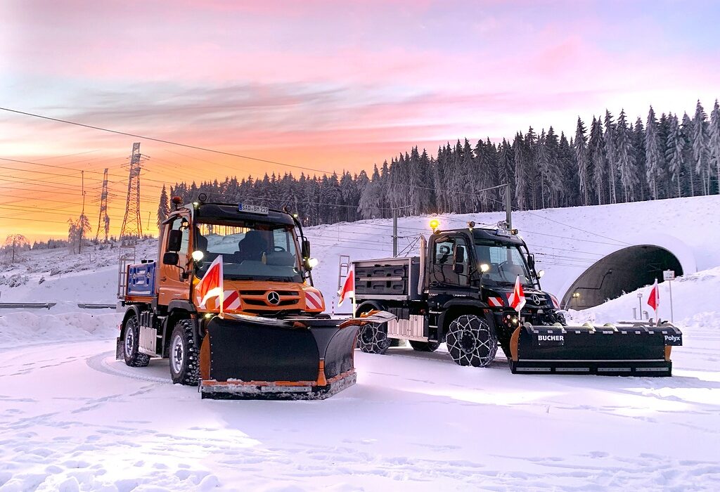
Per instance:
[[[361,328],[358,345],[366,352],[383,353],[390,339],[409,340],[422,351],[447,342],[456,363],[483,366],[498,342],[510,353],[521,324],[564,324],[557,301],[541,291],[534,256],[513,230],[472,223],[435,230],[418,257],[362,260],[354,267],[356,312],[384,309],[396,316],[387,326]],[[526,297],[522,316],[508,300],[518,278]]]

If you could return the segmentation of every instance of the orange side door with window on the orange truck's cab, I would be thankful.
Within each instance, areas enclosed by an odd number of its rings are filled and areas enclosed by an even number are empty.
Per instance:
[[[190,281],[189,278],[183,278],[183,269],[187,268],[190,245],[189,223],[189,217],[179,215],[171,219],[166,227],[163,227],[160,286],[158,288],[158,304],[163,306],[167,306],[170,301],[176,299],[190,299]],[[181,239],[178,244],[179,234]],[[176,265],[166,263],[164,257],[168,252],[177,253]]]

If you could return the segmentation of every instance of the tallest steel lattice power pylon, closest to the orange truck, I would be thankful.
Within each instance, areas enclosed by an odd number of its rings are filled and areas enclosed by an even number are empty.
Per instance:
[[[127,177],[127,204],[125,218],[120,229],[120,259],[117,265],[117,297],[125,294],[127,267],[135,263],[138,239],[143,235],[143,222],[140,219],[140,168],[142,161],[140,142],[132,144],[129,175]]]

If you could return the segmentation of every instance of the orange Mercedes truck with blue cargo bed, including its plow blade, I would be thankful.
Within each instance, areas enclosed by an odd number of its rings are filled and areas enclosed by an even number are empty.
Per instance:
[[[297,216],[207,203],[202,194],[192,204],[173,203],[158,261],[128,265],[121,277],[127,310],[118,359],[143,367],[151,357],[168,358],[172,381],[199,385],[203,398],[320,399],[355,383],[358,327],[393,316],[323,314]],[[222,309],[220,296],[201,299],[207,282],[197,288],[220,256]]]

